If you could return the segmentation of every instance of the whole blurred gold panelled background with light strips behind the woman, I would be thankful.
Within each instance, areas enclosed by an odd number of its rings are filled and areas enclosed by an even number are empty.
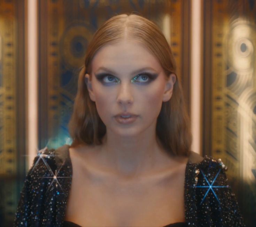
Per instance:
[[[178,66],[191,150],[221,158],[256,226],[255,0],[0,0],[0,226],[12,226],[38,151],[70,144],[80,66],[110,17],[154,21]]]

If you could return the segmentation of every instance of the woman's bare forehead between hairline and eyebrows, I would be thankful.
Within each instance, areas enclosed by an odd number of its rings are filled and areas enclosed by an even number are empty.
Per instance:
[[[161,70],[157,58],[142,44],[133,40],[123,40],[101,47],[92,60],[92,70],[100,66],[132,71],[134,68],[150,66]]]

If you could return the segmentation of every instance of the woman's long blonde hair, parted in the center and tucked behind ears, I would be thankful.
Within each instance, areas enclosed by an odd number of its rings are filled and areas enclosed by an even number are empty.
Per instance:
[[[102,144],[102,138],[106,134],[106,125],[98,114],[95,102],[90,99],[85,74],[88,73],[92,80],[92,59],[101,47],[124,39],[136,40],[144,45],[161,64],[166,80],[171,73],[176,75],[172,97],[169,101],[162,103],[160,114],[157,117],[156,135],[170,155],[188,156],[192,134],[171,47],[155,23],[136,14],[111,17],[95,32],[88,44],[85,63],[79,73],[73,113],[68,125],[73,140],[71,147],[79,144]]]

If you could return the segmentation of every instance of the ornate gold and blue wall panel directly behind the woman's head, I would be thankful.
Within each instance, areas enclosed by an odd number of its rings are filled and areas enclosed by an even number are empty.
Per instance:
[[[117,14],[134,12],[160,26],[176,57],[189,110],[189,4],[183,0],[39,1],[39,147],[69,143],[67,124],[87,44],[99,26]]]

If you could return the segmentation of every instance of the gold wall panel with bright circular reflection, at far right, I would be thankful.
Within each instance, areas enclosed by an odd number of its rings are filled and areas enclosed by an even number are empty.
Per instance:
[[[256,223],[256,2],[204,1],[203,151],[221,158]]]

